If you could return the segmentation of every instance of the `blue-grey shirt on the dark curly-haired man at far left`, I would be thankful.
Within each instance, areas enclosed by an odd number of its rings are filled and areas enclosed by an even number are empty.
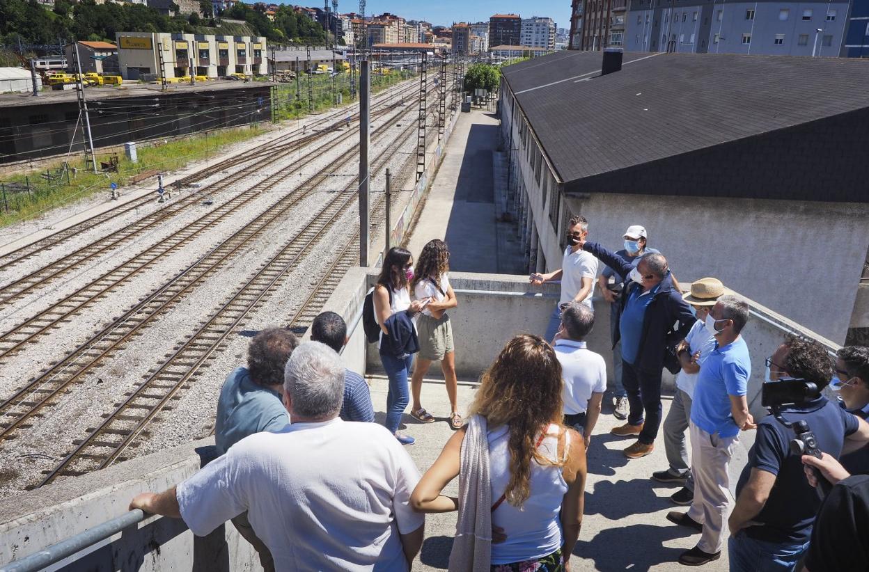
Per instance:
[[[280,431],[289,424],[281,395],[257,385],[246,367],[229,374],[217,399],[215,444],[222,455],[244,437],[262,431]]]

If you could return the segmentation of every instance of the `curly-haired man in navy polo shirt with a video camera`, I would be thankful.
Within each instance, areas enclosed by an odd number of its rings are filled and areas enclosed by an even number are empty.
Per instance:
[[[763,403],[774,415],[758,424],[736,486],[728,521],[734,572],[793,570],[808,548],[820,496],[806,482],[801,454],[794,449],[808,453],[815,448],[839,457],[846,439],[869,439],[869,424],[821,396],[833,367],[818,342],[788,336],[766,365]],[[794,427],[809,431],[794,439]]]

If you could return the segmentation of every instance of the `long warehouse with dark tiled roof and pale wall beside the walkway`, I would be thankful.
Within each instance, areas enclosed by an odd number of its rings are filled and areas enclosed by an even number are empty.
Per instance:
[[[839,344],[869,333],[866,62],[620,56],[607,74],[590,51],[502,69],[529,269],[561,265],[574,214],[613,250],[640,224],[680,278],[718,276]]]

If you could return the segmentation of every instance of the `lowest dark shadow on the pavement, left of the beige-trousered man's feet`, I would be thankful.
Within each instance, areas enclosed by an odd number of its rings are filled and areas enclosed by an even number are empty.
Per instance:
[[[666,522],[660,527],[634,524],[624,528],[604,529],[594,538],[577,542],[574,555],[593,560],[596,570],[646,572],[664,562],[673,562],[673,569],[677,569],[681,568],[677,561],[685,549],[667,548],[663,544],[690,534],[684,527]],[[587,569],[587,566],[580,565],[575,568]]]

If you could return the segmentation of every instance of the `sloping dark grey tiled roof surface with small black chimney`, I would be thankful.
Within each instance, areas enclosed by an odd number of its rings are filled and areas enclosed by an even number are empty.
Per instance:
[[[865,60],[626,53],[620,71],[600,76],[601,59],[566,50],[502,69],[567,192],[577,181],[699,151],[711,157],[735,141],[869,111]]]

